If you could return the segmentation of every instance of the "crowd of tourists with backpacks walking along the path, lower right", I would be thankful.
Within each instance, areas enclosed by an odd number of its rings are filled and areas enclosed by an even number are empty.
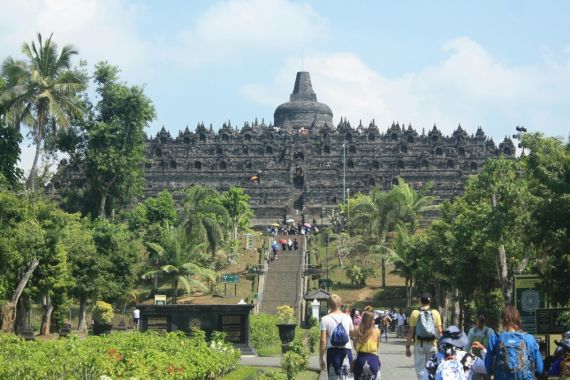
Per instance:
[[[519,380],[543,373],[570,378],[570,332],[556,342],[558,349],[545,369],[537,340],[522,331],[514,306],[503,309],[501,332],[487,326],[486,316],[479,314],[467,334],[454,325],[444,328],[428,293],[422,294],[421,307],[409,317],[401,309],[343,309],[336,294],[329,307],[321,319],[319,351],[320,366],[329,379],[380,379],[380,342],[388,340],[391,328],[397,337],[406,338],[405,355],[413,355],[418,380]]]

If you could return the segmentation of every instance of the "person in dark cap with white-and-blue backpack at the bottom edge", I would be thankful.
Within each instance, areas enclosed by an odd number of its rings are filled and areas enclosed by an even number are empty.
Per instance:
[[[439,340],[439,351],[426,363],[423,380],[454,379],[473,380],[475,376],[485,376],[485,363],[477,356],[466,352],[467,336],[457,326],[449,326]],[[479,343],[473,343],[481,349],[483,357],[487,350]]]

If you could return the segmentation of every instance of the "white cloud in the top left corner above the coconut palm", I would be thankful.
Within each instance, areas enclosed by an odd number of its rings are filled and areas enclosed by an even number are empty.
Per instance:
[[[72,44],[90,65],[108,60],[125,72],[140,69],[148,47],[136,31],[143,9],[119,0],[0,1],[0,56],[21,58],[23,42],[53,32],[60,47]]]

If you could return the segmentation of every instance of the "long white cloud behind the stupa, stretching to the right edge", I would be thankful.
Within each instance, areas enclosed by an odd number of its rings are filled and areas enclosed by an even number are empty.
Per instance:
[[[481,125],[496,142],[519,124],[548,135],[568,134],[570,59],[507,65],[464,37],[449,41],[443,50],[448,56],[438,64],[395,78],[381,75],[352,53],[314,54],[305,58],[305,68],[335,122],[347,117],[356,126],[360,119],[365,125],[375,119],[384,130],[400,121],[420,131],[436,123],[445,133],[459,123],[471,133]],[[272,84],[249,84],[241,94],[264,105],[282,103],[296,71],[291,59]]]

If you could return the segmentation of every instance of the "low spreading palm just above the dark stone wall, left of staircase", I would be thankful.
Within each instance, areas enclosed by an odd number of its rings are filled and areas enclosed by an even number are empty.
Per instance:
[[[205,245],[192,246],[183,228],[176,228],[165,223],[161,244],[147,242],[148,248],[155,254],[151,265],[154,269],[143,274],[143,279],[158,279],[161,283],[172,285],[172,303],[177,302],[178,287],[182,284],[187,292],[192,287],[205,291],[209,288],[203,280],[209,283],[216,281],[216,272],[204,268],[196,262],[196,253]]]

